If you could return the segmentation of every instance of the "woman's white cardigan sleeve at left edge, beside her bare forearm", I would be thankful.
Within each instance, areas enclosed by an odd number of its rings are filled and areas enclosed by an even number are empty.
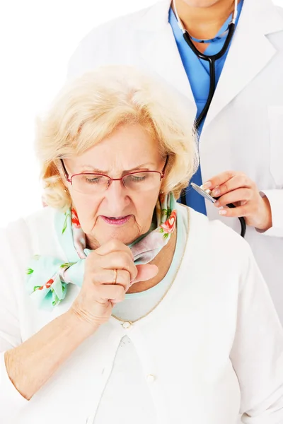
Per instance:
[[[18,254],[11,252],[6,231],[0,230],[0,423],[8,423],[28,403],[13,386],[4,362],[4,353],[22,343],[12,277],[16,271],[13,253]]]

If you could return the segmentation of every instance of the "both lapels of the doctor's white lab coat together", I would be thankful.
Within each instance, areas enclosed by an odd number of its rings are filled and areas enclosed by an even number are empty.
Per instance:
[[[144,31],[144,40],[148,40],[141,51],[141,56],[150,69],[154,69],[190,100],[188,105],[195,115],[197,109],[192,89],[180,59],[171,25],[168,23],[170,6],[171,0],[158,2],[139,15],[139,21],[134,23],[138,31]],[[271,0],[244,0],[236,33],[203,131],[272,59],[276,49],[267,39],[267,35],[282,30],[283,16]],[[240,57],[241,66],[239,66]]]

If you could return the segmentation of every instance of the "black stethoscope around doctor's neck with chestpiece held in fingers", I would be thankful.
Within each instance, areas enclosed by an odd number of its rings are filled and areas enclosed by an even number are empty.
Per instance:
[[[173,7],[174,7],[176,19],[178,21],[178,26],[183,33],[183,37],[185,39],[185,42],[187,42],[187,45],[192,49],[192,52],[194,52],[199,59],[203,59],[203,60],[206,60],[206,61],[209,62],[209,80],[210,80],[209,81],[209,94],[208,94],[208,97],[207,97],[207,101],[204,105],[204,108],[202,109],[202,112],[200,112],[200,115],[197,117],[197,119],[195,119],[195,128],[198,130],[200,128],[200,124],[202,123],[204,118],[207,116],[207,112],[209,110],[209,106],[212,102],[212,98],[213,98],[214,92],[215,92],[215,88],[216,88],[215,87],[216,86],[215,62],[216,62],[217,59],[220,59],[221,57],[223,57],[224,54],[227,52],[227,49],[229,48],[229,44],[230,44],[231,39],[233,37],[233,34],[235,32],[236,18],[237,18],[237,14],[238,14],[238,0],[234,0],[233,16],[232,16],[231,22],[228,25],[228,28],[221,35],[218,35],[217,37],[211,38],[209,40],[198,40],[197,38],[192,37],[192,35],[187,33],[187,30],[185,30],[183,23],[179,18],[178,11],[177,11],[177,8],[176,8],[176,5],[175,5],[175,0],[173,0]],[[200,52],[192,42],[192,41],[195,41],[195,42],[201,42],[201,43],[204,43],[204,44],[208,44],[210,42],[215,42],[215,41],[217,41],[217,40],[219,40],[219,39],[221,39],[222,37],[225,37],[225,36],[226,36],[226,40],[225,40],[224,45],[221,48],[220,52],[213,54],[212,56],[209,56],[207,54]],[[218,198],[213,197],[211,195],[210,190],[204,190],[204,189],[202,189],[202,187],[200,187],[200,186],[198,186],[197,184],[194,184],[194,183],[191,183],[190,185],[201,196],[203,196],[204,199],[207,199],[207,200],[211,201],[212,203],[215,203],[216,200],[218,199]],[[181,199],[182,199],[182,203],[185,203],[185,196],[182,196]],[[229,208],[235,208],[236,207],[233,204],[228,204],[226,206],[228,206]],[[245,237],[245,234],[246,234],[245,218],[239,217],[238,219],[240,220],[240,223],[241,223],[241,236]]]

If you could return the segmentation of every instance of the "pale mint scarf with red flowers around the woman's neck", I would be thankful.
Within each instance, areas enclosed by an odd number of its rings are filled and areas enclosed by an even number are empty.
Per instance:
[[[129,245],[134,264],[148,264],[167,245],[175,230],[177,211],[172,193],[158,198],[155,216],[149,232]],[[38,307],[50,309],[64,300],[69,283],[83,283],[84,261],[90,249],[86,248],[84,234],[74,208],[66,213],[55,213],[55,229],[68,261],[36,254],[26,270],[26,288]]]

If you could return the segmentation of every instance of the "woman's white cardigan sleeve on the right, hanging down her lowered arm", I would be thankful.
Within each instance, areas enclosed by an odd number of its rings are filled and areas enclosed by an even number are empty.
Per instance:
[[[267,285],[247,246],[231,361],[245,424],[283,424],[283,329]],[[283,307],[283,305],[282,305]]]

